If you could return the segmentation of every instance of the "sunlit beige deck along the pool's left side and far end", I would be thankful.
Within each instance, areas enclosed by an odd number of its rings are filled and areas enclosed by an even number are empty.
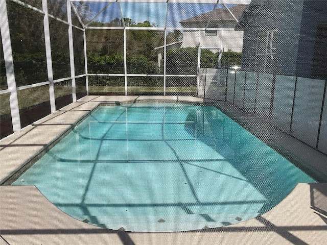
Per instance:
[[[92,110],[105,104],[129,104],[139,102],[183,102],[202,103],[191,96],[85,96],[40,120],[0,140],[0,158],[6,159],[0,168],[0,185],[9,185],[41,158],[60,139],[71,132]],[[49,132],[46,127],[52,126]],[[51,134],[50,134],[51,133]],[[47,137],[35,137],[42,135]],[[40,143],[41,141],[41,143]],[[15,154],[23,152],[24,154]],[[24,151],[23,151],[24,150]]]

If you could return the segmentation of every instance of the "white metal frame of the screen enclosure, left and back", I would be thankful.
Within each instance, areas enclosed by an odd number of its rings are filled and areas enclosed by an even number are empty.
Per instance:
[[[197,77],[197,75],[168,75],[166,74],[166,53],[167,53],[167,34],[170,30],[192,30],[192,31],[206,31],[206,30],[217,30],[217,28],[208,28],[210,19],[207,20],[206,28],[183,28],[183,27],[167,27],[167,18],[168,18],[168,9],[169,4],[171,3],[194,3],[194,4],[213,4],[214,9],[218,6],[218,4],[222,4],[228,11],[228,7],[226,4],[249,4],[250,0],[67,0],[67,21],[57,18],[48,12],[48,1],[42,0],[42,10],[33,7],[27,3],[24,3],[20,0],[10,0],[15,2],[21,6],[29,8],[33,11],[36,11],[43,15],[43,28],[44,28],[44,43],[45,43],[45,55],[46,55],[46,67],[48,72],[48,81],[36,83],[32,85],[25,86],[16,86],[15,80],[15,72],[14,72],[14,62],[13,62],[13,54],[12,54],[12,46],[11,46],[11,38],[10,38],[10,30],[9,30],[9,21],[8,21],[8,13],[7,13],[7,5],[6,0],[0,0],[0,27],[1,27],[1,37],[2,37],[2,45],[4,50],[4,59],[6,66],[6,76],[7,76],[7,89],[0,90],[0,94],[10,93],[10,110],[11,110],[11,118],[12,118],[12,126],[13,132],[19,132],[21,130],[20,124],[20,115],[19,115],[19,106],[17,99],[17,90],[28,89],[37,86],[43,86],[49,84],[49,95],[50,95],[50,108],[51,113],[56,112],[56,104],[55,104],[55,93],[54,93],[54,83],[71,80],[72,81],[72,96],[73,103],[77,101],[76,96],[76,79],[85,77],[86,81],[86,94],[89,94],[88,90],[88,76],[122,76],[124,77],[124,86],[125,86],[125,95],[128,94],[127,89],[127,77],[162,77],[164,79],[164,92],[163,95],[166,95],[166,78],[167,77]],[[90,27],[88,24],[95,19],[98,15],[101,14],[102,11],[99,11],[94,17],[91,18],[88,23],[84,23],[81,19],[77,9],[76,4],[80,2],[105,2],[108,3],[106,6],[109,7],[112,3],[118,3],[121,11],[121,16],[123,20],[123,27]],[[165,15],[165,24],[163,27],[127,27],[124,22],[125,16],[122,12],[121,3],[162,3],[166,4],[166,15]],[[72,11],[74,11],[77,16],[81,27],[78,27],[72,22]],[[229,11],[230,12],[230,11]],[[232,15],[232,14],[231,14]],[[52,56],[51,56],[51,43],[50,43],[50,28],[49,28],[49,18],[53,18],[60,22],[63,22],[68,25],[68,43],[69,43],[69,63],[71,69],[71,77],[61,78],[54,80],[53,77],[53,65],[52,65]],[[236,19],[236,21],[238,21]],[[85,74],[76,76],[75,74],[75,63],[74,63],[74,42],[73,42],[73,27],[83,31],[83,44],[84,44],[84,66],[85,66]],[[124,74],[88,74],[87,69],[87,50],[86,50],[86,30],[88,29],[105,29],[105,30],[123,30],[124,32]],[[127,54],[126,54],[126,31],[127,30],[156,30],[164,32],[164,74],[128,74],[127,72]],[[200,42],[200,40],[199,40]],[[218,47],[219,48],[219,47]]]

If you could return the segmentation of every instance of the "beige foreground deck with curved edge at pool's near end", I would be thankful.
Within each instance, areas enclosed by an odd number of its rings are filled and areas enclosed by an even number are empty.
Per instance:
[[[298,184],[281,203],[256,218],[185,232],[126,232],[88,225],[56,208],[35,186],[0,186],[4,244],[324,244],[327,183]],[[300,198],[299,198],[300,197]],[[7,242],[7,243],[5,243]]]

